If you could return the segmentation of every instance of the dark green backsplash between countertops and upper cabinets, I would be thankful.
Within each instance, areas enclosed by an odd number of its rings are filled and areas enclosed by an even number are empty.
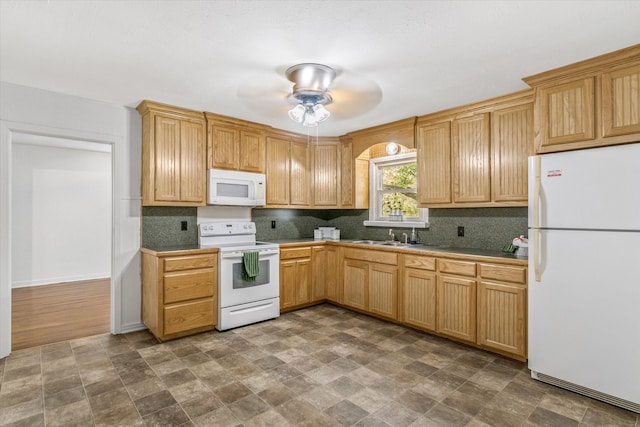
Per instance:
[[[366,209],[316,210],[267,209],[251,211],[257,239],[262,241],[313,238],[313,229],[334,226],[342,239],[385,240],[388,227],[365,227]],[[181,230],[183,221],[187,230]],[[271,228],[275,221],[276,228]],[[458,227],[464,237],[458,237]],[[400,223],[393,227],[397,239],[411,233]],[[527,208],[429,209],[429,228],[416,229],[418,242],[463,248],[499,250],[519,235],[527,235]],[[172,246],[197,244],[197,208],[144,207],[142,245]]]

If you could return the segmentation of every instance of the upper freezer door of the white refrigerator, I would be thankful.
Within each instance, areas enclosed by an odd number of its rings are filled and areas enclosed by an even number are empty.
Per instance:
[[[640,143],[529,158],[529,227],[640,230]]]

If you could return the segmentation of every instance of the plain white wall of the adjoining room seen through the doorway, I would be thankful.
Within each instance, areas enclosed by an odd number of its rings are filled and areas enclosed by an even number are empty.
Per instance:
[[[39,138],[12,144],[12,287],[110,277],[111,146]]]

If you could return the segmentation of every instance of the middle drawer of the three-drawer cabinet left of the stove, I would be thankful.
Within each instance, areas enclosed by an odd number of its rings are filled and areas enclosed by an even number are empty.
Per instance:
[[[167,273],[164,275],[164,303],[210,297],[214,283],[212,268]]]

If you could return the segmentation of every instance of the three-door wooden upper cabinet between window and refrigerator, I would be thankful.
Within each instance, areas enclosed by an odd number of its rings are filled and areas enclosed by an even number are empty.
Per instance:
[[[418,202],[423,207],[527,205],[532,91],[418,118]]]

